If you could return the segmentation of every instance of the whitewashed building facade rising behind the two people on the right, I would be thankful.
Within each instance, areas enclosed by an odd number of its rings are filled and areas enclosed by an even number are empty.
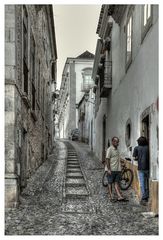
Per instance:
[[[103,158],[107,140],[117,136],[122,157],[131,157],[138,137],[146,136],[152,195],[159,179],[158,5],[103,5],[97,34],[96,155]]]

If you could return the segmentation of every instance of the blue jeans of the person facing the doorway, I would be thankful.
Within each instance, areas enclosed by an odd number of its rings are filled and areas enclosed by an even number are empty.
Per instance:
[[[141,199],[148,200],[149,198],[149,171],[139,170],[139,181],[141,188]]]

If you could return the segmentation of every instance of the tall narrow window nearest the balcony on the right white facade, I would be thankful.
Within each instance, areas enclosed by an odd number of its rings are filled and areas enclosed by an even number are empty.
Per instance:
[[[132,15],[128,18],[126,26],[126,67],[128,68],[132,59]]]

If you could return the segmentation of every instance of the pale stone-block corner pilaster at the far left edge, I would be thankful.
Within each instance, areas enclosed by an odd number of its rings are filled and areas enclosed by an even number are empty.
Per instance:
[[[18,200],[15,129],[15,6],[5,6],[5,200],[15,206]],[[10,202],[10,204],[8,204]]]

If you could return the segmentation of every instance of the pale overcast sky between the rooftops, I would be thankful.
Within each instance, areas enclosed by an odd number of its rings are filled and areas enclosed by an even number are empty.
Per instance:
[[[95,54],[97,24],[101,5],[54,5],[57,42],[57,88],[67,57],[77,57],[86,50]]]

